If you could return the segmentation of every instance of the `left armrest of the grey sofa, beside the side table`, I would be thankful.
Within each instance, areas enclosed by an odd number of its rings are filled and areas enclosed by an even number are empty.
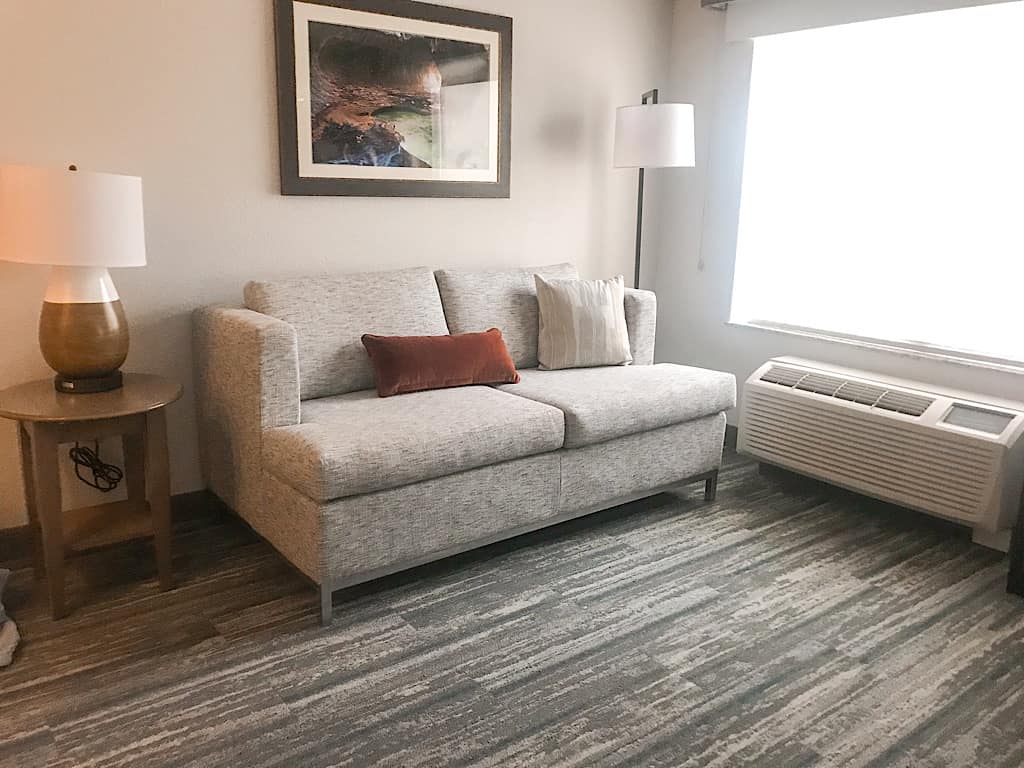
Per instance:
[[[298,338],[248,309],[202,308],[193,319],[203,474],[246,517],[259,503],[263,430],[299,423]]]

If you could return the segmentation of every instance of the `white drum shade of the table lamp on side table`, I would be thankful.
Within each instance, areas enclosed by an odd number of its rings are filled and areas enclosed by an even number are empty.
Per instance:
[[[142,179],[0,166],[0,259],[58,266],[143,266]]]

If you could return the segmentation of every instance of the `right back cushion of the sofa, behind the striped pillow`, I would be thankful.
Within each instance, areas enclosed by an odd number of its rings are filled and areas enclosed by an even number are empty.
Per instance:
[[[516,368],[537,368],[540,310],[534,275],[547,280],[580,276],[572,264],[502,271],[442,269],[435,274],[452,333],[482,333],[497,328]]]

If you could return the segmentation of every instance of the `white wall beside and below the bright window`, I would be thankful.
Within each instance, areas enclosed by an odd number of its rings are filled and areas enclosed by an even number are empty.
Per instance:
[[[655,286],[658,359],[729,371],[741,382],[769,357],[795,354],[1024,398],[1024,378],[1015,374],[726,325],[745,129],[742,81],[743,73],[749,75],[750,45],[723,42],[725,16],[701,9],[695,0],[676,2],[669,95],[695,104],[697,167],[664,179]]]

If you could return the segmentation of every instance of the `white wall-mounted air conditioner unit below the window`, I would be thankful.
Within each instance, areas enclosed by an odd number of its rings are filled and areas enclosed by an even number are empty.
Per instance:
[[[1024,486],[1024,403],[795,357],[743,386],[738,450],[970,525],[1004,549]]]

